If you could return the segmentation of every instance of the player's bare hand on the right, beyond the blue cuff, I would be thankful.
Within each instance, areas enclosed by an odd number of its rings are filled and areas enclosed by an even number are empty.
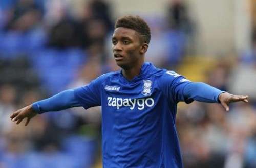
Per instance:
[[[225,110],[229,111],[229,103],[231,102],[245,102],[248,103],[248,95],[233,95],[228,92],[221,93],[219,95],[219,101],[222,104],[222,106],[225,108]]]

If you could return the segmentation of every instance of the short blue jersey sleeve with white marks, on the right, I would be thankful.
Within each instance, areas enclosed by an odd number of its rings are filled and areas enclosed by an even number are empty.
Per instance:
[[[191,103],[194,100],[184,96],[184,88],[191,81],[177,74],[175,71],[166,71],[159,80],[159,86],[167,99],[173,103],[184,101]]]

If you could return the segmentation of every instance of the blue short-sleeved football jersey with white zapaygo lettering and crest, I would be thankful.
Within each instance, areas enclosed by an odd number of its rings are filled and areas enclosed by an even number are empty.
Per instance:
[[[103,167],[183,167],[175,116],[179,101],[193,101],[183,95],[188,83],[146,62],[133,80],[117,71],[76,89],[84,108],[102,108]]]

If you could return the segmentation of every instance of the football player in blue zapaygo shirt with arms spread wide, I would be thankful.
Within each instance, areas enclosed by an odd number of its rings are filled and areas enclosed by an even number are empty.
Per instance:
[[[101,106],[104,168],[183,167],[175,126],[177,103],[220,103],[229,111],[229,103],[248,102],[248,96],[191,82],[144,62],[150,39],[150,28],[139,16],[117,19],[112,51],[120,71],[34,102],[10,118],[16,124],[27,118],[28,125],[32,117],[44,112]]]

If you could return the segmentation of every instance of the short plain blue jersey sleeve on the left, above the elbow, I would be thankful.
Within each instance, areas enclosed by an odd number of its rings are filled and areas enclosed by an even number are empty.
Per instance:
[[[101,86],[105,77],[106,74],[103,74],[88,85],[74,90],[75,98],[85,109],[101,105]]]

